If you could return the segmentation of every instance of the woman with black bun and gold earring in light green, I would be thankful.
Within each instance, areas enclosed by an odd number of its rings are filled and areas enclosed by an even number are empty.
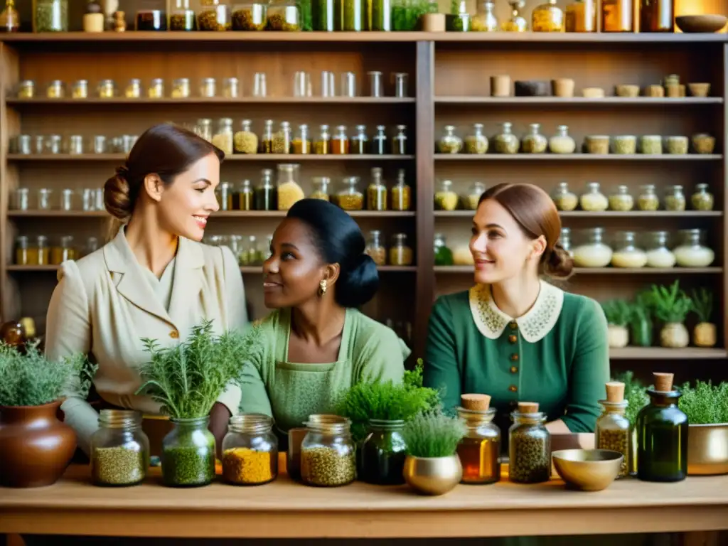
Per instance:
[[[358,381],[399,382],[409,349],[387,326],[357,311],[379,287],[359,226],[336,205],[303,199],[273,234],[263,266],[263,352],[247,363],[241,411],[274,417],[285,432],[331,411]]]

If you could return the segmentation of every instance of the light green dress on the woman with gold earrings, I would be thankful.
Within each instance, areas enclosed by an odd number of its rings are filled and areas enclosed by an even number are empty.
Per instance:
[[[288,362],[290,309],[276,310],[258,325],[261,352],[244,365],[240,411],[272,416],[279,432],[331,412],[339,392],[359,381],[402,381],[410,353],[392,329],[356,309],[347,309],[339,359],[330,364]]]

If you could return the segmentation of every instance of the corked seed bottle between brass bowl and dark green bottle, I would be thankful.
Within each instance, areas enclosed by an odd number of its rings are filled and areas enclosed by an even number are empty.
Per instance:
[[[617,478],[629,475],[630,421],[625,416],[628,402],[625,384],[610,381],[606,384],[606,400],[600,400],[601,416],[596,420],[596,448],[618,451],[624,456]]]

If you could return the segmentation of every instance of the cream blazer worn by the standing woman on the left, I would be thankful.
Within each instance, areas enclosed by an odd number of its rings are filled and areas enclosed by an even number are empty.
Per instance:
[[[226,247],[180,237],[169,312],[155,295],[129,247],[124,229],[114,240],[58,272],[47,315],[46,355],[58,360],[83,352],[98,363],[94,384],[103,400],[122,408],[158,414],[159,404],[134,392],[141,386],[138,366],[149,360],[142,338],[162,347],[179,344],[202,320],[215,333],[248,323],[240,268]],[[88,453],[98,414],[71,386],[61,409]],[[240,388],[230,384],[218,401],[237,414]]]

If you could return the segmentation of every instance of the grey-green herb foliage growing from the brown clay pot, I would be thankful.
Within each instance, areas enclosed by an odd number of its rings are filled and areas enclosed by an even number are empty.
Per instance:
[[[68,394],[87,397],[98,366],[80,353],[50,362],[38,344],[26,344],[23,355],[0,343],[0,405],[44,405]]]

